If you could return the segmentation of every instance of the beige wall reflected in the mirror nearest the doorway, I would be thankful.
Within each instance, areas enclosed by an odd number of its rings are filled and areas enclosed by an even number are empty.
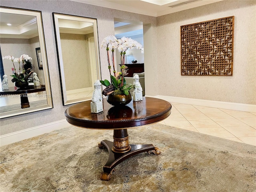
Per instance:
[[[92,86],[88,39],[80,34],[60,34],[66,90]]]

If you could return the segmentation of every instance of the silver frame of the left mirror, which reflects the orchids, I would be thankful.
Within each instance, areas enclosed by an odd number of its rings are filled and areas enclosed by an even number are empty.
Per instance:
[[[27,113],[31,113],[31,112],[36,112],[36,111],[40,111],[40,110],[46,110],[46,109],[53,108],[52,92],[51,92],[51,86],[50,86],[50,76],[49,76],[48,62],[47,62],[47,56],[46,56],[46,47],[45,47],[45,41],[44,41],[42,12],[35,11],[35,10],[4,7],[4,6],[0,6],[0,12],[10,13],[10,14],[19,14],[19,15],[30,15],[30,16],[36,17],[37,28],[38,28],[38,38],[39,38],[39,44],[40,44],[40,50],[41,50],[41,56],[42,56],[42,66],[43,66],[43,72],[44,72],[46,100],[47,100],[47,104],[45,104],[45,105],[34,106],[34,107],[30,107],[30,108],[24,108],[24,109],[13,110],[13,111],[8,111],[8,112],[2,112],[2,113],[0,113],[0,118],[6,118],[6,117],[27,114]]]

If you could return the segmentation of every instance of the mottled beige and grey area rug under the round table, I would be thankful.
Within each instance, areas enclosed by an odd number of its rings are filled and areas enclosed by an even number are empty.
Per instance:
[[[112,130],[70,126],[0,149],[1,192],[255,192],[256,147],[162,124],[128,129],[130,144],[154,144],[100,180]]]

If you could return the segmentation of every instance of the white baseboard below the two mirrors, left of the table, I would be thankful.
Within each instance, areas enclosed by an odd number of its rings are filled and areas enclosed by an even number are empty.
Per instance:
[[[0,146],[8,145],[18,141],[22,141],[28,138],[36,137],[45,133],[52,132],[54,130],[62,129],[70,126],[70,124],[64,120],[28,128],[25,130],[13,132],[0,136]]]

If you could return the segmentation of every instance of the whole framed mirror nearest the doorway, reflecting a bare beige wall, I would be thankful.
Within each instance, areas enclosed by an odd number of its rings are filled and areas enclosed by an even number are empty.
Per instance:
[[[63,105],[92,99],[100,78],[97,20],[53,13]]]

